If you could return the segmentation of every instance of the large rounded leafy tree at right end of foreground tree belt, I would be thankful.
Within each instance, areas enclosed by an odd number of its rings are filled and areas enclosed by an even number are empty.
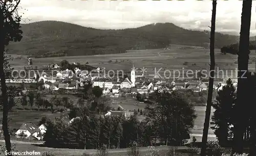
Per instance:
[[[155,127],[154,131],[161,142],[181,145],[189,139],[189,129],[193,128],[195,108],[184,100],[178,92],[155,92],[145,108],[146,121]]]

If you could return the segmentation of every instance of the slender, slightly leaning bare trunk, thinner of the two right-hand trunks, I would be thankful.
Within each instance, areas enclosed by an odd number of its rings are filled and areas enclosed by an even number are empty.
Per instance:
[[[212,14],[211,14],[211,28],[210,28],[210,77],[209,77],[209,89],[208,89],[207,106],[205,111],[204,129],[203,129],[203,137],[202,137],[201,156],[206,155],[206,144],[207,144],[207,137],[208,137],[208,130],[209,130],[209,122],[210,122],[212,92],[214,90],[214,69],[215,69],[214,45],[215,45],[216,6],[217,6],[217,0],[213,0]]]

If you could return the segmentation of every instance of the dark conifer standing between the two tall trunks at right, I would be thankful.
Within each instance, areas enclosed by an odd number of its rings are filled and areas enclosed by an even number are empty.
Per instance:
[[[212,115],[212,122],[215,126],[211,128],[215,130],[219,143],[222,146],[228,144],[228,141],[232,139],[232,125],[235,123],[233,113],[235,100],[236,100],[236,89],[233,87],[232,81],[229,79],[226,82],[226,86],[218,91],[215,103],[212,103],[212,107],[215,109]]]

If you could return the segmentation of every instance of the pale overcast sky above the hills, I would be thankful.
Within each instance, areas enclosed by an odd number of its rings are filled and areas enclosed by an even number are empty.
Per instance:
[[[20,12],[28,22],[66,21],[99,29],[136,28],[172,22],[185,29],[209,30],[212,2],[196,1],[96,1],[22,0]],[[26,9],[26,10],[25,10]],[[216,31],[240,31],[242,1],[217,1]],[[251,35],[256,35],[256,2],[252,1]]]

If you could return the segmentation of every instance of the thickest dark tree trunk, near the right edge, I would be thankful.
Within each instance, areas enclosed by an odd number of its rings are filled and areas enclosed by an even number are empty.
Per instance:
[[[234,124],[234,138],[232,153],[243,153],[243,137],[246,130],[246,123],[248,123],[248,112],[246,109],[250,106],[245,106],[250,103],[247,96],[248,87],[248,60],[249,60],[249,37],[250,37],[250,23],[251,23],[251,4],[252,0],[243,1],[243,9],[241,16],[241,30],[240,41],[238,51],[238,89],[237,89],[237,102],[236,112],[241,115],[237,115],[236,124]],[[246,72],[246,74],[244,74]],[[246,77],[246,78],[245,78]],[[254,103],[253,103],[254,104]]]

